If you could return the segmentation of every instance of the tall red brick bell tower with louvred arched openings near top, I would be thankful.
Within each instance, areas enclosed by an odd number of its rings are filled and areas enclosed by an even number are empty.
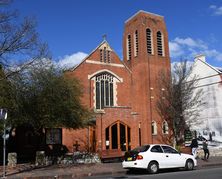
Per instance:
[[[163,121],[156,110],[161,71],[170,71],[168,34],[164,17],[139,11],[125,22],[123,61],[131,70],[131,104],[138,113],[141,144],[160,143]],[[153,133],[152,123],[157,125]]]

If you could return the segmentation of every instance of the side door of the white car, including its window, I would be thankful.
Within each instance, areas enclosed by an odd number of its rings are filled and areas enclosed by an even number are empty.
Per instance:
[[[184,167],[185,161],[181,157],[181,154],[176,149],[167,145],[162,145],[161,147],[165,154],[166,162],[169,168]]]

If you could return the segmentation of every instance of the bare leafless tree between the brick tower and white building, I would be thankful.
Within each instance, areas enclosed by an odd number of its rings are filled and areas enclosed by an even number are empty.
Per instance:
[[[162,89],[156,103],[160,116],[172,127],[174,140],[179,142],[183,132],[197,120],[202,102],[203,92],[197,89],[198,77],[192,75],[192,66],[186,60],[173,66],[171,75],[161,72],[158,81]]]

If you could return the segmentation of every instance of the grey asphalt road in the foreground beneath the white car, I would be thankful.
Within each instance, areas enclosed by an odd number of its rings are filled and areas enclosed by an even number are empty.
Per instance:
[[[221,179],[222,178],[222,167],[217,168],[204,168],[193,171],[162,171],[159,174],[151,175],[147,173],[137,172],[134,174],[119,174],[113,176],[95,176],[86,177],[87,179]]]

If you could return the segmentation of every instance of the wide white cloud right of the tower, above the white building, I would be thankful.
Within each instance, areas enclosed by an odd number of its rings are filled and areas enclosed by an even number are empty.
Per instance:
[[[171,58],[193,59],[198,54],[204,54],[213,60],[222,61],[222,53],[216,49],[210,49],[207,43],[200,39],[192,39],[190,37],[176,37],[169,42]],[[175,59],[178,60],[178,59]]]

